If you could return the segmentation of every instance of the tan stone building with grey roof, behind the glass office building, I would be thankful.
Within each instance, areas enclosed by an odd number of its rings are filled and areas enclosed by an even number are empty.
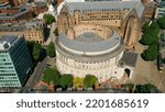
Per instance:
[[[26,41],[35,41],[40,44],[44,43],[44,29],[45,24],[41,20],[21,23],[0,25],[0,35],[24,35]]]

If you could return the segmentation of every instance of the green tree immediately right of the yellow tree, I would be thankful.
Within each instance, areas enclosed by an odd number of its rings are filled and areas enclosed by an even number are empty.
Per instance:
[[[84,79],[84,85],[86,88],[92,88],[96,82],[98,82],[98,78],[94,75],[86,75]]]

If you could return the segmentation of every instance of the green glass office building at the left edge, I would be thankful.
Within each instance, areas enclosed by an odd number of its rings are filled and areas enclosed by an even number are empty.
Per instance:
[[[32,68],[24,37],[0,37],[0,87],[22,87]]]

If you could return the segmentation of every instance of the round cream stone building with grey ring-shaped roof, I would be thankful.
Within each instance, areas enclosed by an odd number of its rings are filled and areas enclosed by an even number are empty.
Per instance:
[[[107,26],[78,24],[59,34],[55,41],[56,67],[61,74],[75,77],[95,75],[99,82],[116,76],[123,55],[123,40]]]

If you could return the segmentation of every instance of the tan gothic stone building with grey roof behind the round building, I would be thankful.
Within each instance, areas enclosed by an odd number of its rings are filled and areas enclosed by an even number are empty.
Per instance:
[[[124,38],[125,47],[132,48],[141,36],[143,10],[141,1],[66,2],[57,16],[58,31],[77,24],[106,25]]]

